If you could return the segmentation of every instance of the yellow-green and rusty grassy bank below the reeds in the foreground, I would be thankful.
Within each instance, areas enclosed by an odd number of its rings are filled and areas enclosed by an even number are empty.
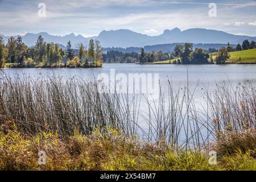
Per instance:
[[[256,140],[255,130],[242,135]],[[164,143],[127,138],[114,129],[60,138],[49,131],[26,135],[10,123],[2,127],[0,138],[0,170],[256,170],[256,148],[242,151],[239,147],[245,145],[230,138],[216,145],[217,154],[223,154],[216,165],[209,164],[204,152],[174,151]],[[223,151],[226,145],[236,150]],[[46,152],[46,164],[39,165],[39,151]]]

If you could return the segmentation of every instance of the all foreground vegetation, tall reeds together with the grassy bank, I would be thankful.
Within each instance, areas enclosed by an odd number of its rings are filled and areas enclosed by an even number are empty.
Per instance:
[[[191,89],[169,82],[168,94],[160,90],[159,102],[146,102],[142,117],[142,95],[100,93],[98,86],[77,77],[2,77],[0,168],[256,170],[254,84],[205,89],[208,104],[199,110]],[[46,165],[38,164],[41,150]],[[210,150],[217,165],[208,162]]]

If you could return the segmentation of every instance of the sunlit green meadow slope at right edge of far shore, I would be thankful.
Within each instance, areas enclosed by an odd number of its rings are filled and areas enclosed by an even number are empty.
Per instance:
[[[213,59],[217,56],[217,52],[212,53]],[[243,51],[235,51],[229,52],[230,58],[228,63],[243,63],[243,64],[250,64],[256,63],[256,49],[249,49]],[[240,60],[241,57],[241,60]]]

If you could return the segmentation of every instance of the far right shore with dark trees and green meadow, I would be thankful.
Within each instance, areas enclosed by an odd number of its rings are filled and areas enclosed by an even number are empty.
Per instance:
[[[212,52],[212,53],[208,53]],[[209,49],[205,51],[202,48],[193,50],[191,43],[184,45],[177,45],[174,48],[174,55],[170,56],[171,59],[165,61],[148,62],[143,58],[144,50],[141,51],[140,63],[141,64],[254,64],[256,63],[256,45],[254,41],[249,42],[244,40],[242,46],[237,44],[233,48],[228,43],[228,47],[222,47],[219,50]]]

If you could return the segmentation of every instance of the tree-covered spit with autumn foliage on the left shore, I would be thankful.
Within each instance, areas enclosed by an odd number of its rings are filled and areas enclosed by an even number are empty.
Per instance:
[[[96,68],[102,67],[102,52],[100,42],[91,39],[88,50],[79,45],[77,53],[72,49],[71,42],[66,49],[58,44],[46,43],[43,37],[38,37],[35,46],[28,47],[19,36],[13,36],[6,46],[0,37],[0,68]]]

